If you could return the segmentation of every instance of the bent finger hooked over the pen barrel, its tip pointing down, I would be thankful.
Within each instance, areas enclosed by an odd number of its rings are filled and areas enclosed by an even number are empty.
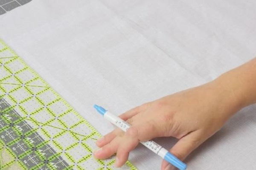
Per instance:
[[[129,152],[139,144],[137,138],[138,131],[135,127],[131,127],[125,133],[116,153],[116,167],[121,167],[128,160]]]

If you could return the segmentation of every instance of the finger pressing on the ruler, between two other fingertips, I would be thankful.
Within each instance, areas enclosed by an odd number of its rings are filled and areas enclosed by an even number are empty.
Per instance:
[[[109,144],[106,144],[102,148],[96,150],[93,154],[96,159],[107,159],[116,153],[119,147],[120,138],[113,139]]]

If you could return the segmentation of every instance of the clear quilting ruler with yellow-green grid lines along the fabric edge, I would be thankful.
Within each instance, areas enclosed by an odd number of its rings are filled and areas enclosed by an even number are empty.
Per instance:
[[[100,136],[0,40],[0,170],[120,169],[93,157]]]

